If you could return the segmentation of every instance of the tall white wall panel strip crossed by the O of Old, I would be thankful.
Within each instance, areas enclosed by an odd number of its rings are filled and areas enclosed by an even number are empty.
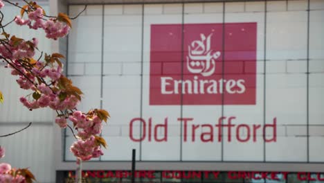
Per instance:
[[[109,14],[110,6],[105,6],[103,38],[104,74],[103,105],[111,119],[102,136],[106,137],[109,148],[102,160],[129,160],[132,149],[136,149],[136,159],[140,157],[140,144],[131,140],[139,139],[139,123],[131,121],[141,117],[141,31],[142,6],[123,6],[120,15]],[[117,7],[118,10],[120,7]],[[106,14],[106,12],[108,12]],[[114,11],[113,11],[114,12]],[[114,131],[114,132],[113,132]],[[112,133],[111,133],[112,132]],[[123,146],[120,146],[123,144]]]

